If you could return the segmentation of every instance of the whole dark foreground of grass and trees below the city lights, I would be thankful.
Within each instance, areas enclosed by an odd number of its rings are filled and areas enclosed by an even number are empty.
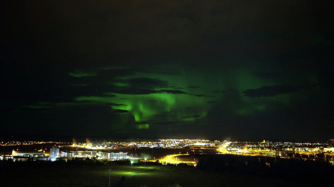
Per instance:
[[[241,166],[226,167],[219,170],[198,169],[190,166],[161,166],[148,163],[148,166],[135,164],[130,175],[130,162],[112,162],[107,165],[100,161],[61,161],[61,162],[0,162],[2,185],[4,186],[28,186],[28,187],[108,187],[109,169],[111,169],[111,184],[119,182],[119,177],[125,176],[124,187],[163,187],[168,184],[178,183],[183,187],[247,187],[247,186],[286,186],[299,185],[305,187],[321,187],[330,181],[332,174],[324,173],[325,170],[309,172],[294,171],[284,168],[287,173],[270,173],[262,171],[261,166],[253,166],[247,171]],[[313,163],[314,164],[314,163]],[[310,163],[308,163],[310,165]],[[312,165],[312,164],[311,164]],[[263,167],[263,166],[262,166]],[[318,167],[318,166],[316,166]],[[323,166],[324,167],[324,166]],[[324,168],[321,169],[324,169]],[[310,168],[311,169],[311,168]],[[333,168],[332,168],[333,170]],[[272,170],[270,170],[272,172]],[[328,172],[328,171],[327,171]],[[312,176],[310,176],[312,174]],[[298,178],[296,181],[292,179]],[[311,177],[311,178],[310,178]]]

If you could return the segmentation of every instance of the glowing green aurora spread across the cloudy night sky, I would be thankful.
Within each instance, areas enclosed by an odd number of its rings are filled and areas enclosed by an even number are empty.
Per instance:
[[[231,118],[253,115],[256,112],[265,112],[268,109],[281,109],[302,98],[299,93],[278,94],[275,96],[248,97],[242,92],[247,89],[258,89],[262,86],[286,84],[273,78],[263,78],[254,69],[247,67],[231,70],[215,70],[211,74],[198,70],[189,70],[180,75],[159,75],[137,73],[128,78],[154,78],[167,81],[166,88],[152,86],[154,91],[178,90],[183,94],[115,94],[104,93],[105,96],[80,96],[76,101],[87,101],[100,105],[108,105],[111,115],[117,116],[120,127],[132,129],[148,129],[155,126],[151,122],[201,122],[211,111],[222,111],[222,116],[231,114]],[[75,70],[70,73],[74,77],[95,76],[93,71]],[[309,82],[316,83],[315,75],[305,72]],[[112,84],[118,87],[130,87],[126,81]],[[300,80],[291,84],[300,85]],[[144,83],[145,84],[145,83]],[[75,85],[75,86],[84,86]],[[149,84],[151,86],[151,84]],[[213,92],[216,91],[216,92]],[[181,93],[182,93],[181,92]],[[305,96],[309,97],[309,95]],[[117,109],[128,112],[117,113]],[[115,111],[115,112],[112,112]],[[141,123],[145,124],[141,124]],[[130,124],[130,125],[129,125]],[[138,125],[139,124],[139,125]],[[181,124],[181,123],[180,123]]]

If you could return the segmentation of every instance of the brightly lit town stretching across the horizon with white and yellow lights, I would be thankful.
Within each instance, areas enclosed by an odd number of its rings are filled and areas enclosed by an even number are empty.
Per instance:
[[[285,159],[317,160],[334,164],[334,140],[326,143],[240,142],[237,140],[159,139],[137,142],[0,142],[1,160],[104,159],[187,164],[196,166],[203,154],[268,156]],[[259,157],[260,159],[260,157]]]

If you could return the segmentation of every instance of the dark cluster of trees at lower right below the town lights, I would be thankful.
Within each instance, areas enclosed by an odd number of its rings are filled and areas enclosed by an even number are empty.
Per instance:
[[[269,156],[203,155],[199,170],[225,171],[319,185],[334,176],[334,166],[325,161],[280,159]]]

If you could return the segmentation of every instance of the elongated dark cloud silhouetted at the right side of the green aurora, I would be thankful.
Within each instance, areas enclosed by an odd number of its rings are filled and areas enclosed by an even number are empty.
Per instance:
[[[275,85],[275,86],[262,86],[257,89],[244,90],[242,93],[247,97],[273,97],[278,94],[287,94],[292,92],[298,92],[302,87],[297,85]]]

